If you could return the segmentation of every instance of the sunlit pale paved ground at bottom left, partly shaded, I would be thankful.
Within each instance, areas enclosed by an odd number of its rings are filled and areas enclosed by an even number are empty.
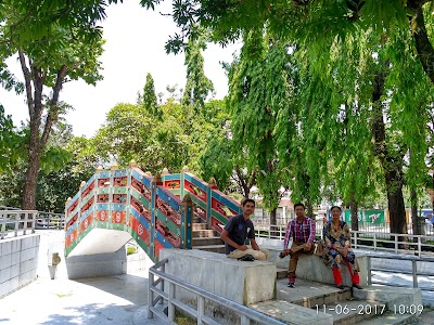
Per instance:
[[[132,274],[39,278],[1,299],[0,324],[135,324],[135,313],[148,303],[146,282]]]

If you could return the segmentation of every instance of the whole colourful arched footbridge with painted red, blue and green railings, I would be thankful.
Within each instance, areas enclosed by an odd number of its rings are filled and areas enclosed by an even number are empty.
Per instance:
[[[191,249],[193,220],[221,233],[240,205],[184,168],[152,177],[136,167],[98,169],[65,206],[65,256],[114,252],[131,237],[153,260]]]

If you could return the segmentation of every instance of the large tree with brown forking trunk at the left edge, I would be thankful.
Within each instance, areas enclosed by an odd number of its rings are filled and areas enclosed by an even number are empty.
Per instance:
[[[24,89],[29,115],[28,164],[23,209],[36,207],[40,159],[52,127],[69,106],[60,100],[62,86],[82,79],[95,83],[102,53],[102,35],[95,23],[104,17],[98,1],[3,1],[0,6],[2,83]],[[5,66],[18,58],[23,80]],[[5,81],[4,81],[5,80]],[[24,84],[24,87],[20,87]]]

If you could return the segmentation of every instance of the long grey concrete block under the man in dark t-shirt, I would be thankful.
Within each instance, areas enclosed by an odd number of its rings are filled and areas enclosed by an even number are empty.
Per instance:
[[[163,249],[165,272],[232,301],[251,304],[276,297],[276,264],[267,261],[242,262],[221,253],[203,250]],[[179,289],[177,299],[191,300],[195,295]]]

